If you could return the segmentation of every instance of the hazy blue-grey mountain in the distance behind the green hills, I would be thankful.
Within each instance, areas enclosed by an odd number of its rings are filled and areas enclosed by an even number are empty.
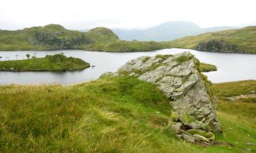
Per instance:
[[[201,28],[188,21],[170,21],[149,29],[111,29],[120,39],[139,41],[169,41],[189,35],[235,29],[234,27]]]

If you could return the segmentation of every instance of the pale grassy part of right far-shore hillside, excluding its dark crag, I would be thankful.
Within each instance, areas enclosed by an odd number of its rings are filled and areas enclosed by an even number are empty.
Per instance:
[[[230,44],[239,46],[246,52],[256,53],[256,27],[205,33],[202,35],[175,39],[174,41],[165,42],[164,44],[169,46],[169,48],[195,49],[199,43],[207,42],[212,39],[218,41],[225,40]]]

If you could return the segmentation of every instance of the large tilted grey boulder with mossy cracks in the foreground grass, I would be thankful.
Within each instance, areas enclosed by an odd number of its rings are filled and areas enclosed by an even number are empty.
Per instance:
[[[134,75],[152,82],[169,98],[170,126],[185,141],[210,142],[220,133],[211,82],[199,72],[199,61],[189,52],[175,55],[141,56],[128,61],[115,73]]]

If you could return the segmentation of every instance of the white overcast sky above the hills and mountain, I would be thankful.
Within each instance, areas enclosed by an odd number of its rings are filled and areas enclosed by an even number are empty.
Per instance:
[[[256,0],[0,0],[0,29],[145,29],[186,20],[200,27],[256,25]]]

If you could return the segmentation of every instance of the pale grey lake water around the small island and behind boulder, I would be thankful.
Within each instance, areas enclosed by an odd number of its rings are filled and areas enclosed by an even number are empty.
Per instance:
[[[44,57],[46,54],[63,52],[66,56],[82,58],[96,67],[83,71],[66,72],[3,72],[0,71],[0,84],[77,84],[96,80],[107,71],[117,71],[127,61],[139,56],[154,56],[156,54],[176,54],[189,51],[203,63],[211,63],[218,71],[205,73],[212,82],[231,82],[238,80],[256,80],[256,54],[225,54],[214,52],[199,52],[197,50],[165,49],[154,52],[87,52],[82,50],[56,51],[8,51],[0,52],[1,61],[25,59],[26,54]],[[16,56],[18,55],[18,56]]]

